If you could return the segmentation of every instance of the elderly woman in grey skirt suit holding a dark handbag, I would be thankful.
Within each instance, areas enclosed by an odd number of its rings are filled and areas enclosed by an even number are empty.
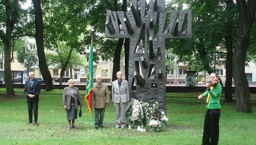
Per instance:
[[[74,87],[74,80],[68,80],[68,87],[63,89],[62,95],[63,108],[67,112],[68,130],[76,129],[75,119],[78,118],[78,106],[82,107],[82,100],[80,98],[79,89]],[[72,125],[71,125],[72,121]]]

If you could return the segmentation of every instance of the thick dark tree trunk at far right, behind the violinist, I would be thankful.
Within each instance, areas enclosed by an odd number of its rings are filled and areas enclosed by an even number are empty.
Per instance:
[[[236,0],[236,5],[239,11],[238,41],[233,56],[236,110],[242,113],[252,113],[251,96],[245,76],[245,61],[250,31],[255,17],[256,1]]]

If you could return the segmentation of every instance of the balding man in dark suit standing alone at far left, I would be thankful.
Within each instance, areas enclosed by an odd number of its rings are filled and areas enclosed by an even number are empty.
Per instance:
[[[28,118],[29,123],[32,123],[33,120],[33,111],[34,111],[34,126],[39,126],[37,123],[38,116],[38,102],[39,102],[39,94],[40,94],[40,82],[35,79],[35,74],[33,71],[29,72],[29,79],[25,82],[24,93],[27,97],[28,104]]]

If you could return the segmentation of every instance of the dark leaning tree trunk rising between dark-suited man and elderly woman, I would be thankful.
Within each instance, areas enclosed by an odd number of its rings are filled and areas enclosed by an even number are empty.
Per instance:
[[[49,90],[53,90],[53,78],[48,69],[48,65],[46,63],[46,55],[44,54],[43,16],[42,16],[42,9],[41,9],[41,1],[32,0],[32,2],[35,10],[35,30],[36,30],[35,39],[36,39],[37,55],[39,58],[39,68],[43,76],[46,91],[49,91]]]

